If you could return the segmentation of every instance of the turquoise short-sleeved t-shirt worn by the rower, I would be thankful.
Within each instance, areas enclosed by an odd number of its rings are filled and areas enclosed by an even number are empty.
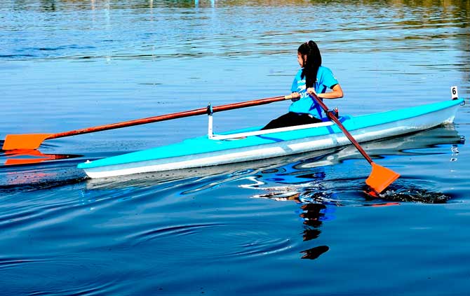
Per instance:
[[[289,111],[295,113],[309,113],[314,115],[316,118],[321,119],[321,106],[316,103],[314,98],[306,91],[305,87],[305,77],[302,79],[302,69],[297,72],[297,75],[294,78],[292,87],[290,87],[291,92],[298,92],[300,94],[300,99],[293,102],[290,105]],[[315,92],[317,94],[323,94],[328,88],[332,88],[337,85],[338,81],[336,80],[333,72],[325,66],[320,66],[318,72],[316,73],[316,83],[315,83]]]

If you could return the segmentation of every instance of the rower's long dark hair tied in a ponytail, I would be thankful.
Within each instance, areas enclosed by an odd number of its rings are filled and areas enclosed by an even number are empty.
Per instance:
[[[308,41],[302,43],[299,46],[297,52],[304,56],[307,56],[307,61],[304,63],[304,69],[302,69],[301,78],[305,77],[305,86],[307,88],[314,87],[316,82],[316,74],[318,73],[318,68],[321,66],[321,54],[318,49],[318,45],[314,41]]]

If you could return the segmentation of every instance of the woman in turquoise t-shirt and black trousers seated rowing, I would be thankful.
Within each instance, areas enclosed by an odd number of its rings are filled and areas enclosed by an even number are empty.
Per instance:
[[[321,99],[343,97],[340,83],[333,76],[333,72],[321,66],[320,50],[314,41],[308,41],[299,46],[297,61],[302,69],[297,72],[290,88],[293,104],[290,105],[289,112],[271,120],[262,129],[321,122],[321,106],[316,103],[311,94],[316,94]],[[331,92],[326,92],[327,89]]]

